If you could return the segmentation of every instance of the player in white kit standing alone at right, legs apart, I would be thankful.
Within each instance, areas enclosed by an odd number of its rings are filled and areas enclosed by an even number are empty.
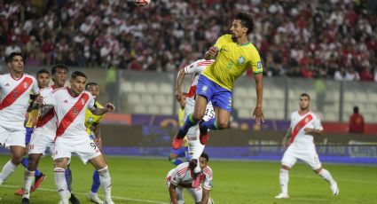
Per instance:
[[[320,177],[323,177],[329,184],[334,196],[339,194],[338,185],[330,172],[322,168],[318,159],[313,137],[321,136],[323,133],[322,124],[316,114],[310,111],[310,96],[302,93],[299,98],[300,109],[291,115],[291,125],[283,138],[282,144],[287,148],[281,159],[279,175],[281,192],[276,199],[288,199],[289,170],[297,160],[304,161]],[[291,136],[288,139],[288,137]]]

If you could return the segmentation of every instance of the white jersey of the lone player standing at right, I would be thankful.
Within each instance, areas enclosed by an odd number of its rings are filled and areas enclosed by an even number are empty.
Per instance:
[[[306,135],[303,129],[323,129],[319,117],[311,111],[302,115],[298,111],[292,113],[290,127],[292,130],[290,141],[295,145],[314,145],[313,136]]]

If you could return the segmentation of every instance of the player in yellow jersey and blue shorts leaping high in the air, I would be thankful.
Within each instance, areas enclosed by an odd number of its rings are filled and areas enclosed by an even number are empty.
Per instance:
[[[225,129],[228,127],[232,112],[232,89],[234,82],[248,68],[252,68],[256,84],[256,106],[253,115],[256,124],[263,122],[263,67],[259,52],[247,39],[253,31],[254,21],[247,12],[237,12],[231,27],[231,35],[217,39],[204,55],[205,59],[215,58],[200,75],[196,90],[195,108],[185,120],[184,126],[173,139],[173,148],[183,143],[188,129],[199,123],[200,143],[206,145],[208,129]],[[208,101],[215,108],[216,117],[208,122],[202,121]]]

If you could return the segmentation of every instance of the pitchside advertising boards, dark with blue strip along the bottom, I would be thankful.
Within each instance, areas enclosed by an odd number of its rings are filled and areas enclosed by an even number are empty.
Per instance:
[[[106,154],[168,156],[177,128],[161,126],[102,126]],[[285,132],[225,129],[211,131],[205,151],[213,158],[279,161]],[[326,134],[316,138],[321,161],[377,164],[377,137],[354,134]]]

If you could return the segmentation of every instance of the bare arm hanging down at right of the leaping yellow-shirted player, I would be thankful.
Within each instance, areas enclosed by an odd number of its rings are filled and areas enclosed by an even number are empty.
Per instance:
[[[257,125],[260,125],[261,122],[264,122],[264,115],[262,111],[263,103],[263,74],[259,73],[254,75],[255,78],[255,91],[256,91],[256,106],[253,112],[255,117],[255,122]]]

